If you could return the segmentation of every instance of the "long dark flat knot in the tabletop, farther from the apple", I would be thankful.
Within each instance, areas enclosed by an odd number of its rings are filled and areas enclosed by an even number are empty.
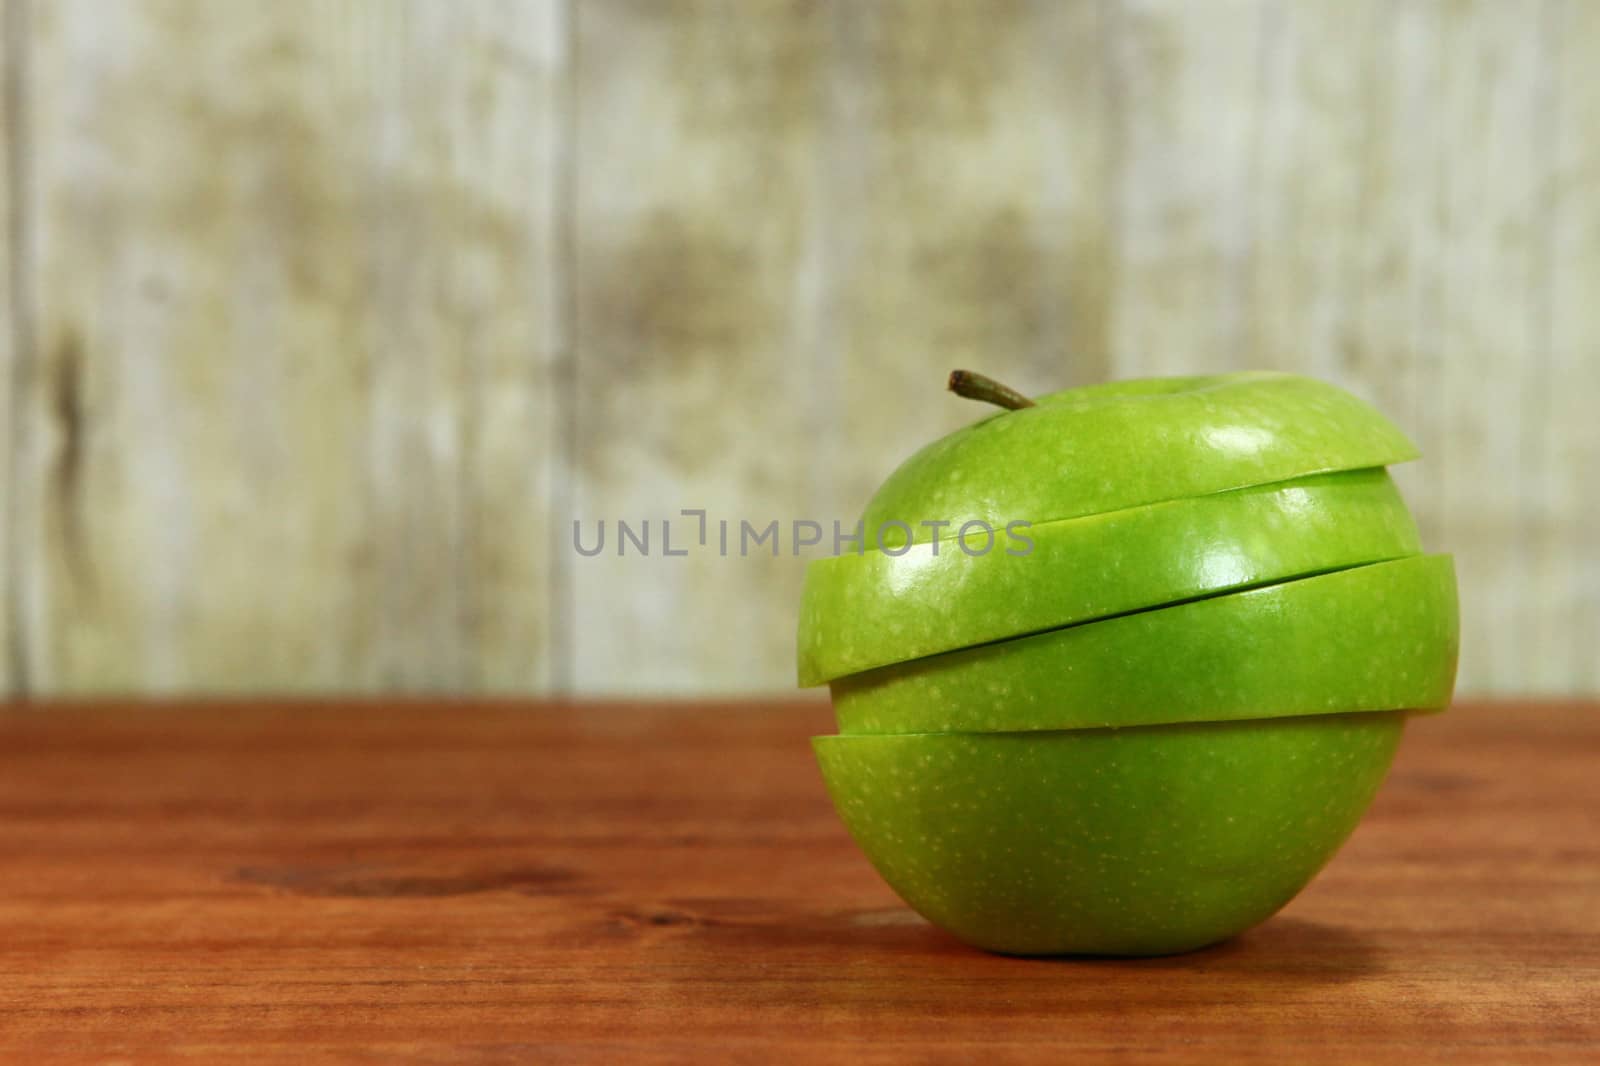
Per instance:
[[[354,863],[341,866],[246,866],[234,880],[282,888],[302,896],[352,900],[416,900],[517,892],[531,896],[582,895],[574,871],[560,866],[480,868],[459,872],[395,871]]]

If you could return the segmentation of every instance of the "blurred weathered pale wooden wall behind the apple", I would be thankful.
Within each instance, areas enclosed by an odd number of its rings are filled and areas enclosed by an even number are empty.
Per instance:
[[[952,365],[1349,386],[1600,690],[1600,3],[0,5],[13,693],[784,688],[787,544],[573,519],[850,525]]]

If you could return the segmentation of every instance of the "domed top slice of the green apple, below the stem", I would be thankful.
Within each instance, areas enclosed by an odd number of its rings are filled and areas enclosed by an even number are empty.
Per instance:
[[[1269,371],[1146,378],[1067,389],[934,440],[896,469],[862,515],[912,543],[966,522],[1005,530],[1389,466],[1418,456],[1405,434],[1344,389]],[[890,527],[882,544],[899,547]]]

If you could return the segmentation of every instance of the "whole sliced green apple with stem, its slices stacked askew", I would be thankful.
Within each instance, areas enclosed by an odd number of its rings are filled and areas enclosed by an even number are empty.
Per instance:
[[[1414,448],[1291,375],[950,387],[1011,410],[906,461],[862,519],[878,554],[808,579],[800,669],[830,680],[845,735],[814,747],[850,832],[992,951],[1165,954],[1266,919],[1405,715],[1450,699],[1453,565],[1381,471]],[[1016,522],[1035,552],[960,549]]]

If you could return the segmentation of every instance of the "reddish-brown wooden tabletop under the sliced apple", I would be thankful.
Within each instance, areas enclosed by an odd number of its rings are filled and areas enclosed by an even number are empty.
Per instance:
[[[1021,960],[904,909],[819,703],[0,715],[0,1061],[1600,1061],[1600,707],[1411,725],[1235,941]],[[1293,1048],[1291,1048],[1293,1045]]]

